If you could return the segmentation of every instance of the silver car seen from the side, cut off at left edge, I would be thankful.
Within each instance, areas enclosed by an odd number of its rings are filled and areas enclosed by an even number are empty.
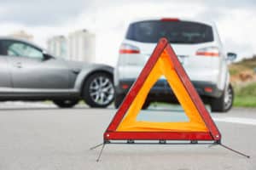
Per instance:
[[[0,37],[0,101],[53,100],[73,107],[113,102],[113,67],[59,59],[32,42]]]

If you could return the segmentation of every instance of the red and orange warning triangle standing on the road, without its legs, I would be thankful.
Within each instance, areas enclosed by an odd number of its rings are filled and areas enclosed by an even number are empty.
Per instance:
[[[150,89],[160,77],[172,88],[188,121],[137,120]],[[221,135],[166,38],[161,38],[104,133],[109,140],[212,140]]]

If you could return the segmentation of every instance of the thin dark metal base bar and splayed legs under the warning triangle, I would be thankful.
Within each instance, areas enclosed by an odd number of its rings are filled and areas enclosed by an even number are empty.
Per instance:
[[[95,146],[91,147],[90,150],[95,150],[96,148],[102,146],[102,149],[100,150],[100,153],[99,155],[97,156],[97,159],[96,161],[100,161],[101,157],[102,157],[102,152],[105,148],[105,145],[106,144],[209,144],[209,148],[212,147],[212,146],[222,146],[224,147],[224,149],[227,149],[227,150],[230,150],[232,152],[235,152],[236,154],[240,155],[240,156],[245,156],[247,158],[250,158],[250,156],[242,153],[241,151],[238,151],[238,150],[234,150],[232,148],[230,148],[229,146],[227,145],[224,145],[224,144],[221,144],[220,141],[211,141],[211,142],[198,142],[197,140],[190,140],[190,141],[187,141],[186,143],[185,142],[171,142],[171,143],[167,143],[166,140],[159,140],[159,143],[156,143],[156,142],[135,142],[134,140],[127,140],[126,142],[112,142],[112,141],[109,141],[109,140],[106,140],[104,141],[102,144],[96,144]]]

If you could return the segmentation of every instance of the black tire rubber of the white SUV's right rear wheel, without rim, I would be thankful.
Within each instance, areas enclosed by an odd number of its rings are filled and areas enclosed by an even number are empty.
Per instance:
[[[234,100],[234,90],[231,85],[229,85],[228,90],[229,90],[230,94],[232,95],[230,105],[228,107],[225,106],[225,101],[224,101],[225,93],[223,93],[219,98],[212,99],[211,108],[212,108],[213,112],[230,111],[230,109],[232,108],[232,105],[233,105],[233,100]]]

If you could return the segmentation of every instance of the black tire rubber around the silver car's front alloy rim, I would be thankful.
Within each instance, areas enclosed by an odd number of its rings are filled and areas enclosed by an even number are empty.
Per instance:
[[[84,88],[83,88],[83,93],[82,93],[82,98],[84,99],[84,102],[89,105],[90,107],[94,107],[94,108],[106,108],[108,107],[108,105],[111,105],[111,103],[113,102],[113,99],[108,102],[108,104],[106,105],[99,105],[96,102],[93,101],[93,99],[91,99],[90,97],[90,93],[89,93],[89,88],[90,88],[90,82],[93,81],[95,79],[95,77],[108,77],[109,80],[112,82],[113,84],[113,77],[105,72],[96,72],[92,75],[90,75],[90,77],[88,77],[86,79],[86,82],[84,82]],[[114,94],[113,94],[114,96]]]

